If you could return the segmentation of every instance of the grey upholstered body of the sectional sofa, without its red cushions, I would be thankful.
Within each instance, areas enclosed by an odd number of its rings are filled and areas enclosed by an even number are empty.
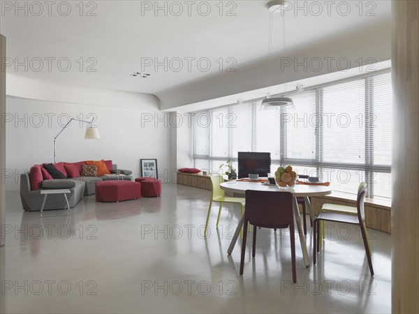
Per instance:
[[[112,164],[111,174],[115,174],[117,165]],[[132,181],[133,177],[130,170],[119,170],[123,176],[104,175],[101,177],[75,177],[68,179],[50,179],[44,180],[42,186],[38,190],[31,189],[30,173],[25,172],[20,176],[20,199],[22,200],[22,207],[24,211],[40,211],[43,195],[41,190],[50,188],[68,188],[70,193],[67,194],[68,204],[70,207],[75,205],[83,198],[84,195],[91,195],[95,193],[96,181],[103,180],[118,180],[124,179]],[[50,194],[45,202],[44,210],[50,209],[66,209],[67,204],[62,194]]]

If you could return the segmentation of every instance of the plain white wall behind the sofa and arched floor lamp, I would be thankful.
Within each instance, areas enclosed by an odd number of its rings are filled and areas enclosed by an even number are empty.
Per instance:
[[[111,159],[118,167],[140,175],[140,159],[156,158],[159,177],[165,180],[172,171],[170,137],[172,127],[165,125],[168,112],[133,110],[97,105],[57,103],[7,96],[6,124],[6,189],[20,188],[20,174],[34,164],[54,161],[54,136],[59,123],[68,117],[89,119],[96,114],[95,124],[100,140],[84,140],[86,124],[73,121],[57,139],[57,162]],[[48,121],[50,116],[50,121]],[[156,121],[156,117],[163,119]],[[142,119],[152,121],[141,123]],[[91,119],[91,118],[90,118]],[[4,121],[4,122],[3,122]]]

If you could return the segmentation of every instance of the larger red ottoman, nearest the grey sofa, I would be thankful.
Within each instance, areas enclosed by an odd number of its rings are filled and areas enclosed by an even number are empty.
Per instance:
[[[107,180],[96,182],[97,202],[119,202],[135,200],[141,197],[141,184],[125,180]]]

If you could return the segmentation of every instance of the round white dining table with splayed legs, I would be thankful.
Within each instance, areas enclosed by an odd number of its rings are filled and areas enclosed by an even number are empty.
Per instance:
[[[263,190],[263,191],[274,191],[277,193],[282,192],[291,192],[293,193],[294,202],[293,202],[293,211],[295,222],[297,223],[298,237],[300,238],[300,244],[302,249],[302,255],[304,257],[304,263],[306,267],[310,267],[310,257],[309,252],[307,251],[307,244],[304,237],[304,232],[302,231],[300,211],[298,210],[297,197],[304,197],[305,204],[307,209],[309,209],[309,214],[311,219],[314,220],[314,213],[311,207],[309,197],[314,196],[323,196],[332,193],[332,188],[330,186],[320,186],[320,185],[306,185],[306,184],[295,184],[293,188],[279,188],[275,184],[263,184],[260,182],[252,181],[227,181],[220,184],[221,189],[226,190],[230,193],[235,193],[242,196],[245,194],[246,190]],[[244,207],[246,211],[246,207]],[[231,240],[230,246],[228,247],[228,255],[231,255],[233,252],[234,246],[237,242],[237,239],[242,229],[244,220],[244,212],[242,217],[239,220],[233,239]]]

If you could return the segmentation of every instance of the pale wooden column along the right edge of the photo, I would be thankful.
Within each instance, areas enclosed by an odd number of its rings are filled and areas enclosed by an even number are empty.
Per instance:
[[[392,1],[392,313],[419,313],[419,1]]]

